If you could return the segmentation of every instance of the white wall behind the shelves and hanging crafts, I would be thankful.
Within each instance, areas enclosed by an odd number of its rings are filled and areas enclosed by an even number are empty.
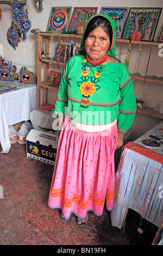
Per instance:
[[[43,10],[41,12],[37,11],[35,7],[34,0],[27,0],[28,5],[28,17],[32,22],[32,28],[39,28],[41,31],[47,31],[47,25],[49,20],[49,14],[51,12],[51,7],[98,7],[97,13],[101,10],[101,7],[162,7],[162,0],[83,0],[74,1],[74,0],[43,0]],[[81,4],[82,3],[82,4]],[[17,71],[20,70],[22,66],[26,66],[27,69],[33,71],[35,74],[37,72],[37,36],[32,34],[30,31],[27,32],[27,39],[22,40],[18,44],[16,50],[12,48],[7,41],[7,31],[11,26],[11,22],[17,24],[17,22],[12,18],[12,7],[9,5],[1,4],[0,8],[2,10],[2,19],[0,21],[0,44],[3,45],[3,57],[5,62],[11,61],[12,64],[17,66]],[[159,23],[156,29],[156,33],[160,35],[161,28],[163,26],[163,10],[160,15]],[[134,72],[135,60],[137,56],[137,50],[139,45],[131,46],[130,53],[130,64],[129,71]],[[117,58],[124,62],[124,59],[127,54],[127,44],[117,43],[116,52]],[[159,48],[153,46],[151,61],[149,62],[148,74],[147,75],[157,75],[163,76],[163,57],[159,57],[158,52]],[[139,65],[139,72],[141,75],[145,75],[148,56],[149,56],[150,46],[142,46],[142,54]],[[134,82],[134,90],[136,97],[146,100],[148,106],[159,107],[160,102],[163,101],[163,85],[145,83],[136,81]],[[50,102],[51,103],[51,102]]]

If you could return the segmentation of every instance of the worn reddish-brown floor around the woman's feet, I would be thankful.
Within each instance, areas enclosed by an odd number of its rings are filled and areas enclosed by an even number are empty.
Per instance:
[[[60,210],[47,205],[52,174],[52,166],[27,159],[26,145],[16,143],[8,154],[0,153],[0,245],[151,245],[157,228],[144,220],[143,234],[138,233],[140,216],[132,210],[124,229],[111,226],[105,209],[101,217],[89,212],[84,228],[75,216],[61,222]]]

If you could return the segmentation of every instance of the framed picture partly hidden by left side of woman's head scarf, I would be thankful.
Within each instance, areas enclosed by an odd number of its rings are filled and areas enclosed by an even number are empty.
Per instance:
[[[79,26],[85,26],[89,18],[97,13],[97,7],[74,7],[68,31],[76,31]]]

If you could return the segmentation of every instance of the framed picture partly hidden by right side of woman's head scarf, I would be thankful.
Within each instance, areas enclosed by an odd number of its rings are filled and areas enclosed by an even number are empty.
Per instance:
[[[106,14],[116,22],[116,38],[121,38],[128,7],[102,7],[100,13]]]

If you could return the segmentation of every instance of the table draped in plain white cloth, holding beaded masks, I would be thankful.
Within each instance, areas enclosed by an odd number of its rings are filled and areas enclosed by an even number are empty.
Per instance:
[[[30,112],[36,108],[36,84],[14,83],[13,89],[0,94],[0,143],[2,153],[10,150],[9,125],[29,120]],[[2,93],[2,90],[0,90]]]

